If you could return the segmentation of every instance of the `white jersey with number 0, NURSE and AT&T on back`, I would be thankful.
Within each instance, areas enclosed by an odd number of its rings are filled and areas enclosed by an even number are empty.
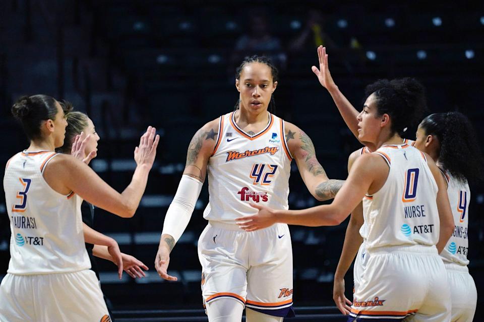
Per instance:
[[[384,145],[380,154],[390,171],[383,187],[363,200],[367,249],[436,245],[439,239],[437,183],[425,154],[411,145]],[[366,234],[366,235],[365,235]]]

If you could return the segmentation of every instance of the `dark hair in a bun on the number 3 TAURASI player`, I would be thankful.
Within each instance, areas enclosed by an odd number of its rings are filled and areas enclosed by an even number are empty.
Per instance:
[[[48,95],[22,96],[12,106],[12,115],[20,121],[29,140],[41,136],[40,124],[45,120],[55,120],[57,101]],[[63,106],[64,113],[69,107]]]

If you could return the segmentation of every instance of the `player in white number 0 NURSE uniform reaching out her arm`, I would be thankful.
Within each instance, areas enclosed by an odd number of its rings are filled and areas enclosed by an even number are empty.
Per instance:
[[[289,211],[253,204],[257,215],[236,220],[246,231],[276,222],[337,225],[364,198],[366,229],[360,232],[369,258],[348,321],[450,321],[438,255],[454,230],[445,182],[433,159],[401,138],[425,108],[423,87],[403,78],[378,81],[366,92],[358,139],[376,151],[357,158],[331,205]]]

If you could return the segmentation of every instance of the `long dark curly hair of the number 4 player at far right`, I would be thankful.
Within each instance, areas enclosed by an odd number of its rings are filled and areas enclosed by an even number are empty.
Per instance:
[[[419,125],[440,142],[439,163],[460,181],[484,179],[484,159],[469,119],[459,112],[435,113]]]

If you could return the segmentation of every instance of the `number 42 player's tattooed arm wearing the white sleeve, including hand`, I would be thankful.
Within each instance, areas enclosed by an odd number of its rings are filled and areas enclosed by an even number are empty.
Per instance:
[[[205,124],[195,133],[187,151],[187,163],[175,197],[166,212],[155,268],[158,275],[175,281],[167,274],[170,253],[188,225],[207,174],[208,159],[217,140],[218,119]]]

